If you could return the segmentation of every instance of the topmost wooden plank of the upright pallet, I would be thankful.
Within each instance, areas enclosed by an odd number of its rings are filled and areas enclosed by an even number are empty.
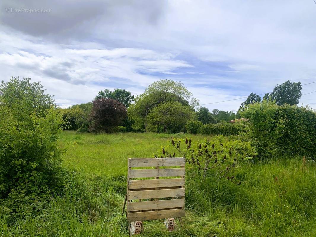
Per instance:
[[[185,158],[129,158],[129,167],[184,166]]]

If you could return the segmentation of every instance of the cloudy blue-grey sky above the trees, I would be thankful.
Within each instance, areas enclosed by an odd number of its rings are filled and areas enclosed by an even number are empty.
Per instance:
[[[1,80],[41,81],[57,105],[181,81],[201,104],[316,81],[316,4],[63,0],[0,3]],[[302,94],[316,91],[316,83]],[[236,110],[245,99],[205,105]],[[300,104],[316,108],[316,93]]]

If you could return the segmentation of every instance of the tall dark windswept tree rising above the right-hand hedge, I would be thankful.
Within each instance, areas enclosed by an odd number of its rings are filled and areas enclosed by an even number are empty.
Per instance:
[[[275,100],[277,105],[297,105],[302,97],[302,85],[301,82],[293,82],[290,80],[277,84],[270,94],[269,99]]]

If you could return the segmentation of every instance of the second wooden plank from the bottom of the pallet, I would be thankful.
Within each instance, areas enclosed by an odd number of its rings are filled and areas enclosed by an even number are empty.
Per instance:
[[[184,199],[135,202],[135,203],[130,203],[128,206],[129,211],[154,210],[154,209],[165,209],[165,208],[176,209],[178,207],[184,208]]]

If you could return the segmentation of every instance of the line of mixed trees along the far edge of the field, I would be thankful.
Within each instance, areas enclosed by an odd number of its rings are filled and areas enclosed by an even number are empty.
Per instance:
[[[263,100],[276,101],[276,105],[295,105],[301,98],[301,82],[290,80],[276,85]],[[160,80],[145,88],[136,97],[131,92],[116,88],[100,91],[92,102],[60,109],[66,121],[65,129],[79,132],[186,132],[188,123],[227,123],[240,119],[247,105],[260,102],[260,95],[251,93],[239,110],[223,111],[199,106],[197,98],[181,82]]]

